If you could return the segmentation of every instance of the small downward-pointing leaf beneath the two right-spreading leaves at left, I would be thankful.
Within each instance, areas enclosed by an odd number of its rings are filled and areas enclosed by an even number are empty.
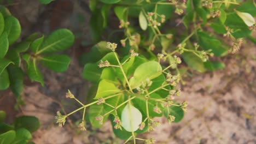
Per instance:
[[[43,75],[36,65],[36,59],[33,59],[33,61],[28,61],[27,73],[31,80],[38,81],[42,86],[44,86]]]

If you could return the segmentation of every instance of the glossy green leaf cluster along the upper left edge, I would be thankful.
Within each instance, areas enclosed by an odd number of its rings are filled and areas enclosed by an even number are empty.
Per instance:
[[[59,29],[46,38],[34,33],[15,44],[20,34],[19,20],[0,6],[0,90],[10,87],[18,98],[24,86],[25,69],[31,80],[44,85],[37,64],[42,63],[57,72],[65,71],[71,59],[57,52],[68,49],[74,42],[74,35],[68,29]],[[26,61],[26,68],[21,57]]]

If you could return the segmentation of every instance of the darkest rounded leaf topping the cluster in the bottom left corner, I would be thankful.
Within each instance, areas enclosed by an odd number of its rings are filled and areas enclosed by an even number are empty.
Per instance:
[[[30,133],[33,133],[40,127],[40,122],[37,117],[34,116],[20,116],[15,118],[15,129],[19,128],[26,128],[30,131]]]

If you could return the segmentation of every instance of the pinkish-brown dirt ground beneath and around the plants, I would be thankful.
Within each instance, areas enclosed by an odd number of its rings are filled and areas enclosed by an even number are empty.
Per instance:
[[[74,33],[82,35],[69,50],[73,61],[65,73],[54,73],[42,68],[44,87],[37,82],[25,82],[23,95],[26,105],[22,106],[22,111],[17,115],[33,115],[40,119],[42,126],[33,134],[33,141],[38,144],[122,143],[123,141],[112,133],[110,122],[101,129],[88,128],[90,130],[83,133],[77,131],[75,121],[81,117],[81,113],[68,119],[70,123],[65,127],[57,127],[55,123],[56,111],[62,108],[71,111],[79,106],[75,101],[65,98],[67,89],[84,101],[90,86],[82,77],[83,67],[79,66],[77,59],[81,51],[87,51],[80,43],[84,39],[90,40],[86,35],[89,19],[82,20],[87,23],[85,26],[79,22],[69,25],[79,15],[89,16],[88,10],[81,8],[78,1],[73,3],[73,8],[69,7],[70,1],[66,0],[63,0],[62,7],[49,5],[48,8],[34,1],[26,1],[27,3],[18,1],[16,5],[10,6],[13,14],[21,20],[23,35],[31,29],[47,33],[56,27],[68,27]],[[26,4],[33,5],[33,8],[22,10]],[[22,12],[18,13],[19,10]],[[31,11],[36,11],[37,15],[27,16]],[[40,11],[48,11],[45,15],[49,14],[49,11],[55,11],[55,15],[45,16]],[[40,16],[45,21],[38,22]],[[60,20],[54,17],[60,17]],[[256,46],[247,40],[237,55],[229,55],[222,58],[222,61],[226,64],[223,70],[205,74],[193,71],[193,76],[184,77],[186,84],[181,86],[182,96],[178,100],[187,100],[189,106],[180,123],[170,125],[165,118],[158,118],[162,125],[141,137],[155,138],[156,143],[173,144],[256,143]],[[11,93],[5,92],[5,95]]]

